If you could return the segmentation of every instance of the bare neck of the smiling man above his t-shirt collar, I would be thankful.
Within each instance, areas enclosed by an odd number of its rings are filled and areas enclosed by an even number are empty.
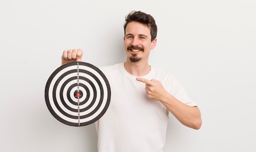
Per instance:
[[[147,75],[151,70],[151,67],[150,65],[148,65],[148,62],[143,63],[126,61],[124,62],[124,68],[128,73],[137,77]]]

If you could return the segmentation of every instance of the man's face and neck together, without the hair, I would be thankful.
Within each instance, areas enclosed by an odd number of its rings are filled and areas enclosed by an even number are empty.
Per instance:
[[[127,59],[124,66],[128,73],[144,76],[150,71],[148,57],[150,50],[155,48],[157,39],[151,40],[150,25],[137,21],[126,22],[124,25]]]

